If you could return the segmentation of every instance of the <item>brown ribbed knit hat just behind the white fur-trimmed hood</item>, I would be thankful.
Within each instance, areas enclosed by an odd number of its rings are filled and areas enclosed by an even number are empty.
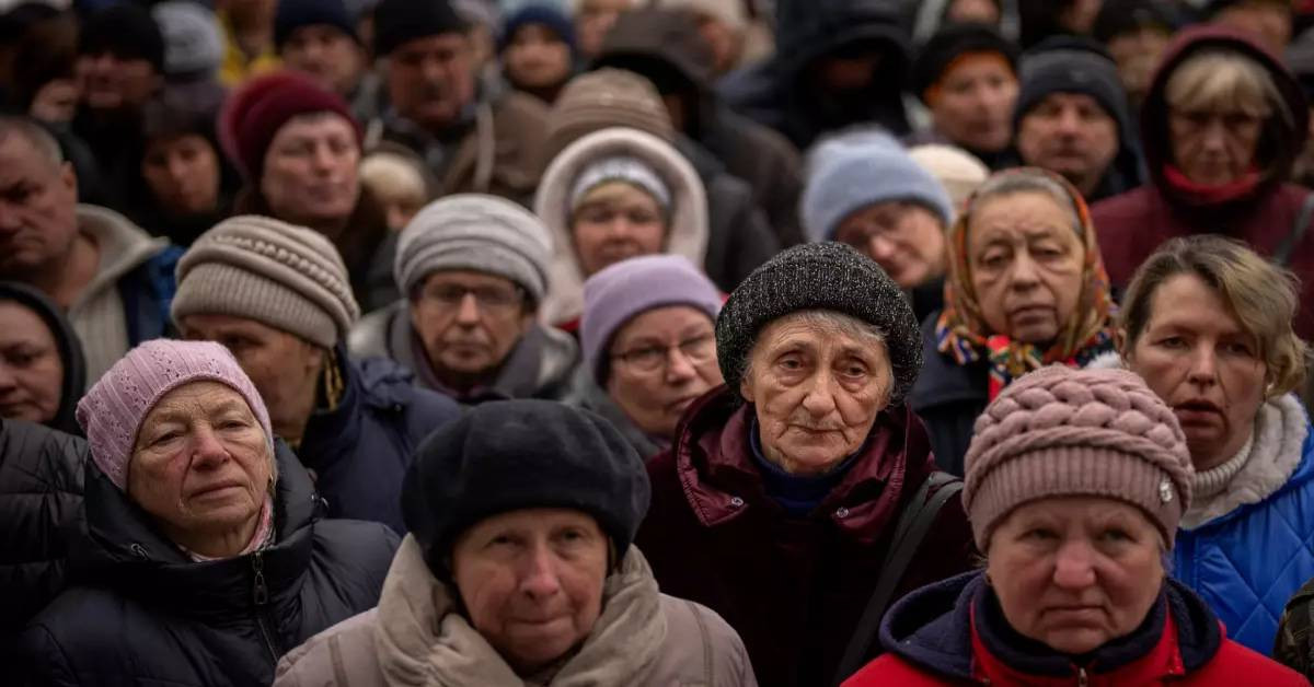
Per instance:
[[[637,74],[602,68],[570,80],[548,112],[544,166],[570,143],[612,126],[628,126],[668,143],[675,127],[653,84]]]

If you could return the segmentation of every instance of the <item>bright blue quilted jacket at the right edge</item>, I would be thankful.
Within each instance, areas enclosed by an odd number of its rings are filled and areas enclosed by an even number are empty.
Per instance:
[[[1296,472],[1268,498],[1179,531],[1172,573],[1209,603],[1229,637],[1268,655],[1286,600],[1314,577],[1314,436],[1306,433]]]

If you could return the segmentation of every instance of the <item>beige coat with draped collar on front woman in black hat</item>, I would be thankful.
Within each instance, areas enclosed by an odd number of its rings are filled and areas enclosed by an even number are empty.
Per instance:
[[[607,578],[579,650],[548,675],[518,676],[455,612],[449,588],[407,536],[378,608],[311,637],[279,662],[275,687],[756,687],[738,634],[715,612],[657,591],[631,548]]]

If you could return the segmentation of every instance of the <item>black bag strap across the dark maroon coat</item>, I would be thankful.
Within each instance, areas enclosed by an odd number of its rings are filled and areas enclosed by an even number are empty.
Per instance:
[[[930,493],[933,489],[936,490],[934,494]],[[853,638],[849,640],[849,646],[844,650],[844,658],[840,659],[840,670],[836,671],[834,684],[838,686],[848,676],[857,673],[866,662],[867,652],[871,650],[871,642],[880,628],[880,620],[886,615],[886,608],[890,607],[895,587],[903,579],[904,571],[908,570],[908,565],[912,562],[912,557],[921,546],[921,541],[926,539],[930,525],[940,516],[940,510],[962,490],[962,479],[949,473],[930,473],[921,483],[921,489],[917,490],[912,502],[908,503],[908,507],[899,516],[899,523],[895,525],[895,536],[890,540],[890,550],[886,553],[886,560],[880,566],[880,577],[876,578],[876,588],[871,592],[871,599],[867,600],[867,607],[862,611],[862,617],[858,620]]]

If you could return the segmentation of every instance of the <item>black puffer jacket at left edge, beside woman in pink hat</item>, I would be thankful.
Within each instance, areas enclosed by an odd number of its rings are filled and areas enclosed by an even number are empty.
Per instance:
[[[81,439],[0,420],[0,641],[64,587],[66,543],[81,521],[85,462]]]

